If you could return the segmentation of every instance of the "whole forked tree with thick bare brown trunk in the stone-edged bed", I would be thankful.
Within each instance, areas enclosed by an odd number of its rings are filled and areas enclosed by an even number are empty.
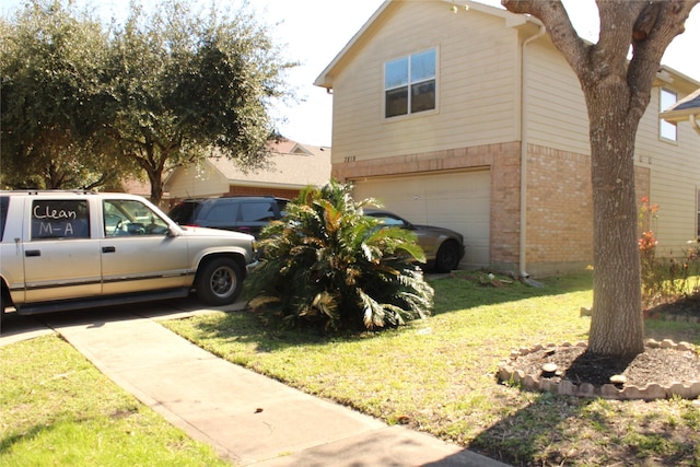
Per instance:
[[[600,33],[588,44],[561,0],[502,0],[538,17],[579,77],[588,110],[594,209],[594,299],[588,350],[644,351],[637,252],[634,140],[666,47],[698,0],[597,0]],[[628,60],[628,52],[632,58]]]

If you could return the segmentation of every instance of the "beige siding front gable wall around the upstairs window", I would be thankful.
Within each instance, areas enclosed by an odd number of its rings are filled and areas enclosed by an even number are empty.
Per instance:
[[[477,11],[454,14],[444,2],[407,3],[336,73],[334,163],[517,139],[516,32]],[[432,47],[438,109],[385,119],[384,63]]]

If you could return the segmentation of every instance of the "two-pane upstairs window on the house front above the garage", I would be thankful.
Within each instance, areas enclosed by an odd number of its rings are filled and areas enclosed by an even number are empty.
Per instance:
[[[435,108],[435,57],[430,49],[385,63],[386,118]]]

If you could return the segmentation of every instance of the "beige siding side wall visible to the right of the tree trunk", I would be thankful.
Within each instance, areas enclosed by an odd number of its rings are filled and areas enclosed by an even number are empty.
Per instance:
[[[673,86],[667,86],[673,90]],[[678,98],[685,94],[678,93]],[[697,189],[700,187],[700,135],[689,122],[677,125],[677,141],[658,136],[660,87],[652,89],[651,102],[640,121],[637,162],[651,171],[650,202],[658,205],[653,229],[658,249],[679,254],[697,235]]]

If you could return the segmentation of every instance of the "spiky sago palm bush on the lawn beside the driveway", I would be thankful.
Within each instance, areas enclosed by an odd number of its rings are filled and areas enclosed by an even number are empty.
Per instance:
[[[261,232],[265,259],[249,278],[250,306],[271,320],[375,329],[430,315],[433,290],[412,259],[416,236],[362,214],[351,187],[307,187]]]

